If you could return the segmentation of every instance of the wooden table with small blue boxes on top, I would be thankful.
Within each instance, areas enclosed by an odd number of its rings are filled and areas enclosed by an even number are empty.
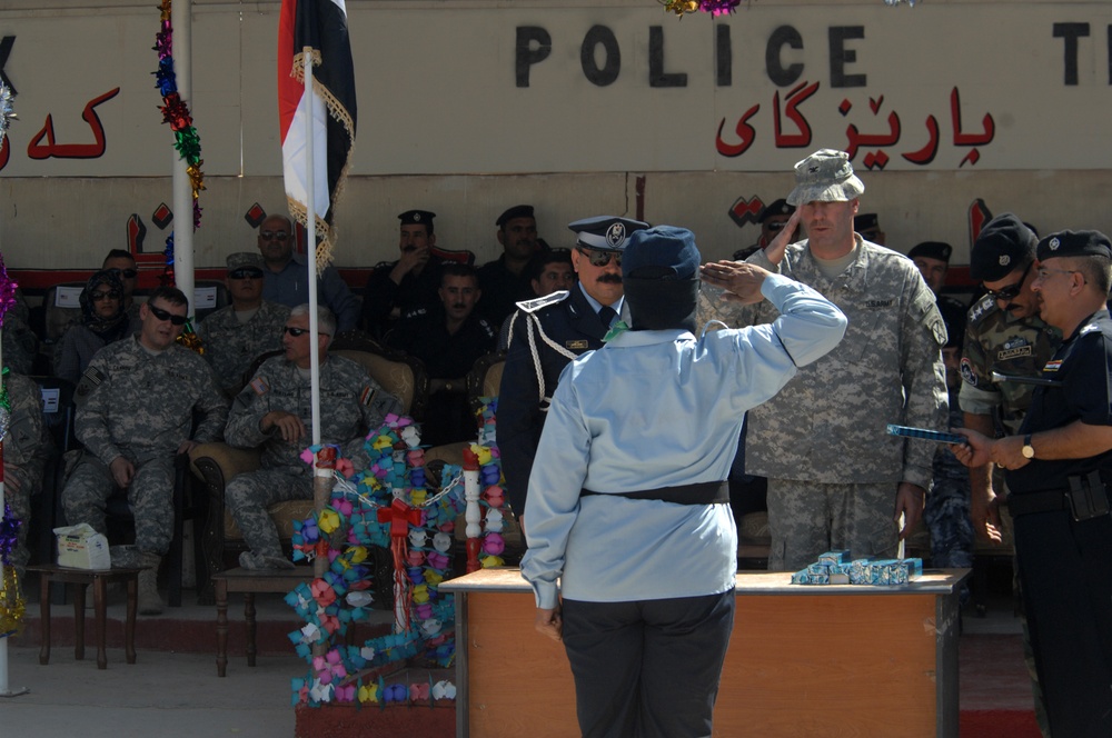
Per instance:
[[[957,585],[790,585],[737,575],[715,736],[957,736]],[[533,629],[517,569],[445,581],[456,597],[456,735],[578,735],[564,648]]]

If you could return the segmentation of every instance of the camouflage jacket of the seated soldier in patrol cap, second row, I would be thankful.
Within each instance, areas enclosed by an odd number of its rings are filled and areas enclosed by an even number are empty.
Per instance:
[[[220,389],[235,397],[244,386],[244,375],[267,351],[281,348],[281,330],[289,308],[266,300],[246,323],[236,317],[234,306],[220,308],[197,326],[205,345],[205,359],[212,366]]]

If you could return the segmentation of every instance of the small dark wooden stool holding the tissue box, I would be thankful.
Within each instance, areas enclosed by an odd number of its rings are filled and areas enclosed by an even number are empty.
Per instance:
[[[42,646],[39,664],[50,662],[50,582],[59,581],[79,585],[73,594],[73,658],[85,658],[85,588],[92,585],[93,611],[97,616],[97,668],[108,668],[105,649],[107,630],[106,609],[108,606],[108,582],[126,581],[128,585],[128,618],[123,630],[123,649],[128,664],[136,662],[136,611],[138,610],[139,572],[142,569],[70,569],[53,564],[29,566],[28,571],[39,572],[39,616],[42,628]]]

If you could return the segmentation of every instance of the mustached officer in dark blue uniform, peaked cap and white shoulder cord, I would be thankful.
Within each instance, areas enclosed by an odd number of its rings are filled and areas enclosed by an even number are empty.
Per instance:
[[[584,351],[600,348],[622,313],[622,251],[648,223],[600,216],[568,223],[576,233],[570,290],[518,302],[498,396],[497,439],[509,505],[520,518],[545,412],[560,371]]]

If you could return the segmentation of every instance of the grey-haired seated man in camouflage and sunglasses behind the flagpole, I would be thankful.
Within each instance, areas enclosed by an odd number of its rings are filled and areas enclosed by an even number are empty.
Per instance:
[[[367,465],[364,440],[401,402],[366,370],[340,356],[329,356],[336,319],[317,308],[320,361],[320,442],[339,445],[340,456],[356,468]],[[282,335],[286,355],[267,359],[232,405],[225,429],[228,443],[262,449],[262,468],[237,475],[225,489],[225,502],[251,550],[239,556],[245,569],[290,569],[267,508],[285,500],[312,499],[312,469],[301,451],[312,445],[309,367],[309,306],[290,311]]]

